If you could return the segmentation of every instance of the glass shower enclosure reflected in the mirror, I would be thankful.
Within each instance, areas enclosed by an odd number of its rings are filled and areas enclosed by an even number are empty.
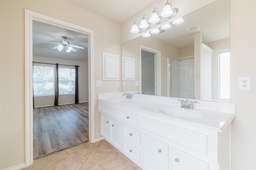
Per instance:
[[[194,57],[170,59],[169,97],[194,98]]]

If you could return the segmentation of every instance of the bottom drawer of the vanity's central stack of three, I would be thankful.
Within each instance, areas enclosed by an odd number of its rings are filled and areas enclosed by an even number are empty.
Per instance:
[[[124,152],[126,152],[126,154],[128,154],[131,158],[133,158],[137,162],[139,163],[141,162],[140,161],[141,150],[126,140],[124,140]]]

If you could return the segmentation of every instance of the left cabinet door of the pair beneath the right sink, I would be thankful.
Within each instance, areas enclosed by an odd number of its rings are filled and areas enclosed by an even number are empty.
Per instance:
[[[168,145],[143,135],[143,165],[146,170],[168,169]]]

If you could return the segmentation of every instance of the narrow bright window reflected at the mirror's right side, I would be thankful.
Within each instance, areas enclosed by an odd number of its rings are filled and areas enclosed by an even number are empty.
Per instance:
[[[219,52],[219,98],[230,99],[230,51]]]

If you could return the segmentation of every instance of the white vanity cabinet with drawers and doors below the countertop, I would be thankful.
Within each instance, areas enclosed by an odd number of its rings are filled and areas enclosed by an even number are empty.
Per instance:
[[[99,111],[102,136],[143,170],[230,170],[228,125],[220,131],[107,100]]]

